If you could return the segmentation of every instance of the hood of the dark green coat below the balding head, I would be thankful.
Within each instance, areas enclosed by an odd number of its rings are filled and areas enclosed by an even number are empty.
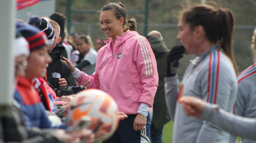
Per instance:
[[[147,36],[146,37],[150,43],[150,46],[155,54],[155,57],[161,57],[166,54],[169,50],[167,49],[165,43],[159,39],[158,37],[154,36]]]

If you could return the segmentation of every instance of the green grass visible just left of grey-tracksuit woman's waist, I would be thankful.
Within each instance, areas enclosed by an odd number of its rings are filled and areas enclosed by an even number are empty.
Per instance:
[[[172,143],[173,138],[173,122],[170,121],[165,124],[163,129],[163,143]],[[241,140],[240,137],[236,138],[236,143],[239,143]]]

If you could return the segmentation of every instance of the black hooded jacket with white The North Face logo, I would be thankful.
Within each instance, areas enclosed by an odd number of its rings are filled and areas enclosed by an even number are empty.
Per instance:
[[[47,67],[47,82],[49,82],[54,89],[60,87],[59,78],[65,78],[70,87],[76,86],[69,66],[61,60],[64,51],[65,48],[57,44],[53,51],[49,53],[53,61]]]

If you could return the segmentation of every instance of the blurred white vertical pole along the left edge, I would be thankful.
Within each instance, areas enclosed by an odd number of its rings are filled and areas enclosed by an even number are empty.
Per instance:
[[[14,89],[15,0],[0,0],[0,105],[10,105]]]

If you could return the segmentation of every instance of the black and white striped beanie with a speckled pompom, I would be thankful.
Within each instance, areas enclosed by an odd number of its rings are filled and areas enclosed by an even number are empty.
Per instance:
[[[53,26],[47,19],[39,18],[38,16],[31,16],[28,19],[28,24],[39,28],[41,31],[44,31],[50,43],[53,44],[54,30],[53,30]]]

